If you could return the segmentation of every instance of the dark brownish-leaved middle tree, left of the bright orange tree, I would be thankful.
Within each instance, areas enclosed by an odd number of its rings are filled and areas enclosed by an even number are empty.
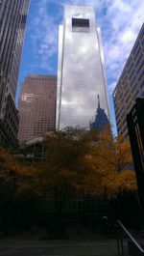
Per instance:
[[[45,195],[55,196],[61,202],[76,186],[76,180],[85,168],[84,156],[88,146],[84,142],[84,130],[67,128],[56,132],[45,138],[44,147],[46,160],[42,166],[36,165],[41,170],[41,189]]]

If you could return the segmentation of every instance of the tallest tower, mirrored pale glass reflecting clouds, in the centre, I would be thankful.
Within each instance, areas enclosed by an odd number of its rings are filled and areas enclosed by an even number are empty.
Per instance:
[[[97,95],[109,118],[104,56],[94,9],[66,6],[59,35],[57,128],[88,128]]]

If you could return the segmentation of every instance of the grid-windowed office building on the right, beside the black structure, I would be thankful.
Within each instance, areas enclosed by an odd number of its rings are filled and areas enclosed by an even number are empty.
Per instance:
[[[144,23],[113,92],[118,134],[128,136],[126,115],[144,97]]]

